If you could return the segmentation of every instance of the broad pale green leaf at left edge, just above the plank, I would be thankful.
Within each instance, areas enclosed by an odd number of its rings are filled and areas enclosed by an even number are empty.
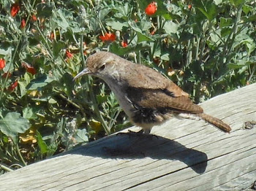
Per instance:
[[[29,120],[21,117],[19,113],[9,112],[0,120],[0,130],[13,141],[16,140],[18,133],[24,133],[30,127]]]

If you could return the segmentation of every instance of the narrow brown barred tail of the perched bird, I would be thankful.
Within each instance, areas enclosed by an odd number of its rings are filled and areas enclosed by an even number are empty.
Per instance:
[[[222,120],[219,120],[216,117],[212,117],[211,115],[208,115],[205,113],[200,113],[196,115],[197,117],[200,117],[206,122],[211,123],[211,125],[214,125],[215,127],[219,128],[219,130],[222,130],[225,133],[230,133],[230,130],[231,130],[230,125],[227,125],[225,122],[222,122]]]

